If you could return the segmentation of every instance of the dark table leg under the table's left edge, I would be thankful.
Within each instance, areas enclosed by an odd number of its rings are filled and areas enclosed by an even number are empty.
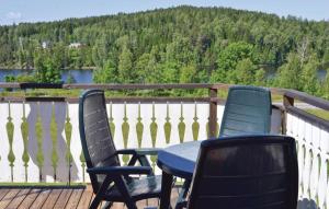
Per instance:
[[[171,208],[170,195],[171,195],[172,182],[173,182],[173,176],[162,171],[160,209]]]

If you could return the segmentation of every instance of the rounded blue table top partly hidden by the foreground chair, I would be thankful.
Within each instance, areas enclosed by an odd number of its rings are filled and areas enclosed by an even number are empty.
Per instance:
[[[192,179],[201,142],[190,141],[164,148],[158,153],[158,166],[168,174]]]

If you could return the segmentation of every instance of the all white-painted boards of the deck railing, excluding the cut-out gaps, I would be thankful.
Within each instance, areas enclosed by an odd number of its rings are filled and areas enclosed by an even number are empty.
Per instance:
[[[58,139],[57,139],[57,151],[59,156],[58,169],[57,169],[57,181],[58,182],[68,182],[68,165],[65,160],[66,155],[66,144],[67,139],[65,136],[65,121],[66,121],[66,103],[55,103],[56,112],[56,123],[58,128]],[[29,162],[29,182],[38,182],[38,167],[36,165],[36,138],[35,138],[35,123],[37,109],[41,109],[42,123],[44,128],[44,138],[43,138],[43,151],[45,156],[45,165],[43,167],[44,181],[54,182],[54,176],[52,174],[53,167],[50,162],[52,156],[52,139],[50,139],[50,116],[53,111],[53,103],[26,103],[25,112],[29,123],[29,152],[31,160]],[[22,123],[22,103],[12,103],[12,118],[14,124],[14,140],[13,140],[13,151],[15,154],[14,162],[14,182],[24,182],[25,171],[22,161],[23,154],[23,140],[21,136],[21,123]],[[72,135],[71,135],[71,154],[72,154],[72,165],[70,169],[71,172],[71,182],[82,182],[83,173],[80,161],[81,154],[81,144],[79,137],[79,120],[78,120],[78,104],[69,104],[69,116],[70,123],[72,125]],[[107,104],[107,109],[110,104]],[[206,139],[206,124],[208,123],[208,104],[198,103],[196,104],[197,109],[197,121],[200,124],[198,139]],[[137,148],[137,135],[136,135],[136,124],[138,117],[138,103],[136,104],[126,104],[127,118],[129,124],[129,139],[127,147]],[[11,173],[8,162],[9,153],[9,143],[5,131],[5,124],[8,117],[8,103],[0,103],[0,127],[3,130],[2,135],[2,146],[0,147],[0,170],[3,171],[0,175],[1,182],[10,182]],[[183,104],[183,117],[185,123],[185,137],[184,141],[193,140],[192,136],[192,124],[194,118],[195,104],[194,103],[184,103]],[[222,116],[224,112],[224,106],[218,105],[218,124],[222,121]],[[122,124],[124,118],[124,105],[123,104],[113,104],[112,105],[112,116],[115,124],[115,135],[114,141],[117,149],[124,148],[123,136],[122,136]],[[181,104],[174,103],[169,104],[169,117],[171,123],[171,141],[166,143],[164,140],[164,130],[163,125],[167,117],[167,104],[155,104],[155,116],[156,123],[158,125],[157,132],[157,148],[163,148],[170,144],[179,143],[179,131],[178,125],[180,123],[181,116]],[[143,132],[143,148],[151,147],[151,136],[149,126],[151,124],[152,117],[152,103],[140,104],[140,117],[141,123],[144,124]],[[281,112],[273,111],[272,115],[272,133],[277,133],[281,129]],[[300,199],[313,199],[318,201],[319,206],[328,206],[328,173],[327,164],[329,161],[329,133],[322,130],[316,125],[304,121],[303,119],[287,115],[287,135],[293,136],[297,140],[298,149],[298,166],[299,166],[299,198]],[[304,151],[305,149],[305,151]],[[313,158],[311,158],[313,156]],[[319,160],[320,159],[320,160]],[[156,167],[156,172],[160,171]],[[89,182],[88,174],[84,173],[84,181]]]

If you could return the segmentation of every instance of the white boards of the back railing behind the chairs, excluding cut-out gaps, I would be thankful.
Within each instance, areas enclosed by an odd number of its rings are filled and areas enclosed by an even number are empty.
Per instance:
[[[183,117],[185,124],[185,136],[184,141],[192,141],[192,124],[195,115],[195,103],[184,103],[183,105]],[[39,182],[39,169],[37,166],[37,140],[35,132],[35,124],[37,115],[39,114],[43,127],[43,154],[44,154],[44,165],[42,167],[42,175],[44,182],[54,182],[54,167],[52,166],[52,150],[53,143],[50,139],[50,120],[52,113],[55,109],[56,123],[57,123],[57,144],[56,150],[58,154],[58,167],[56,172],[57,182],[68,182],[69,177],[69,166],[66,161],[67,152],[67,139],[65,136],[65,123],[67,115],[67,103],[52,103],[52,102],[29,102],[25,103],[25,116],[29,124],[29,143],[27,151],[30,154],[30,161],[27,166],[27,182],[37,183]],[[78,104],[69,104],[69,117],[72,125],[71,132],[71,154],[72,164],[70,167],[71,182],[82,182],[83,174],[88,182],[89,176],[82,170],[82,163],[80,161],[81,144],[79,137],[79,120],[78,120]],[[110,104],[107,104],[107,109],[110,109]],[[197,123],[200,124],[198,140],[207,139],[206,125],[208,123],[209,106],[207,103],[197,103]],[[137,148],[137,135],[136,135],[136,124],[138,117],[138,103],[126,104],[127,118],[129,124],[129,137],[127,148]],[[8,123],[8,103],[0,103],[0,127],[3,130],[2,135],[2,146],[0,147],[0,170],[3,173],[0,175],[0,182],[11,182],[11,170],[8,161],[9,153],[9,141],[5,130],[5,124]],[[217,117],[218,124],[222,123],[224,106],[218,105]],[[117,149],[123,149],[123,136],[122,136],[122,124],[124,118],[124,105],[113,104],[112,105],[112,116],[115,124],[114,141]],[[170,144],[179,143],[179,131],[178,125],[181,117],[181,103],[169,103],[169,117],[171,123],[171,141],[166,143],[164,140],[164,129],[163,125],[167,117],[167,104],[155,104],[155,116],[156,123],[158,125],[157,132],[157,148],[163,148]],[[11,103],[11,117],[14,124],[14,139],[13,139],[13,152],[15,155],[14,167],[13,167],[13,182],[24,182],[25,181],[25,170],[22,160],[23,154],[23,139],[21,133],[21,124],[23,117],[23,104],[22,103]],[[144,124],[143,132],[143,148],[151,147],[151,136],[150,136],[150,124],[152,117],[152,103],[140,104],[140,117]],[[279,111],[273,111],[272,115],[272,132],[275,133],[280,131],[281,127],[281,113]],[[157,172],[160,172],[157,170]]]

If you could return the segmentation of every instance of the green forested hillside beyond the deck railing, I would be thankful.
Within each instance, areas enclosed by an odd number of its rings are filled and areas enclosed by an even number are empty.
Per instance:
[[[329,73],[317,78],[329,67],[329,22],[178,7],[21,23],[0,26],[1,67],[33,70],[23,81],[59,82],[60,70],[94,68],[98,83],[224,82],[329,98]]]

